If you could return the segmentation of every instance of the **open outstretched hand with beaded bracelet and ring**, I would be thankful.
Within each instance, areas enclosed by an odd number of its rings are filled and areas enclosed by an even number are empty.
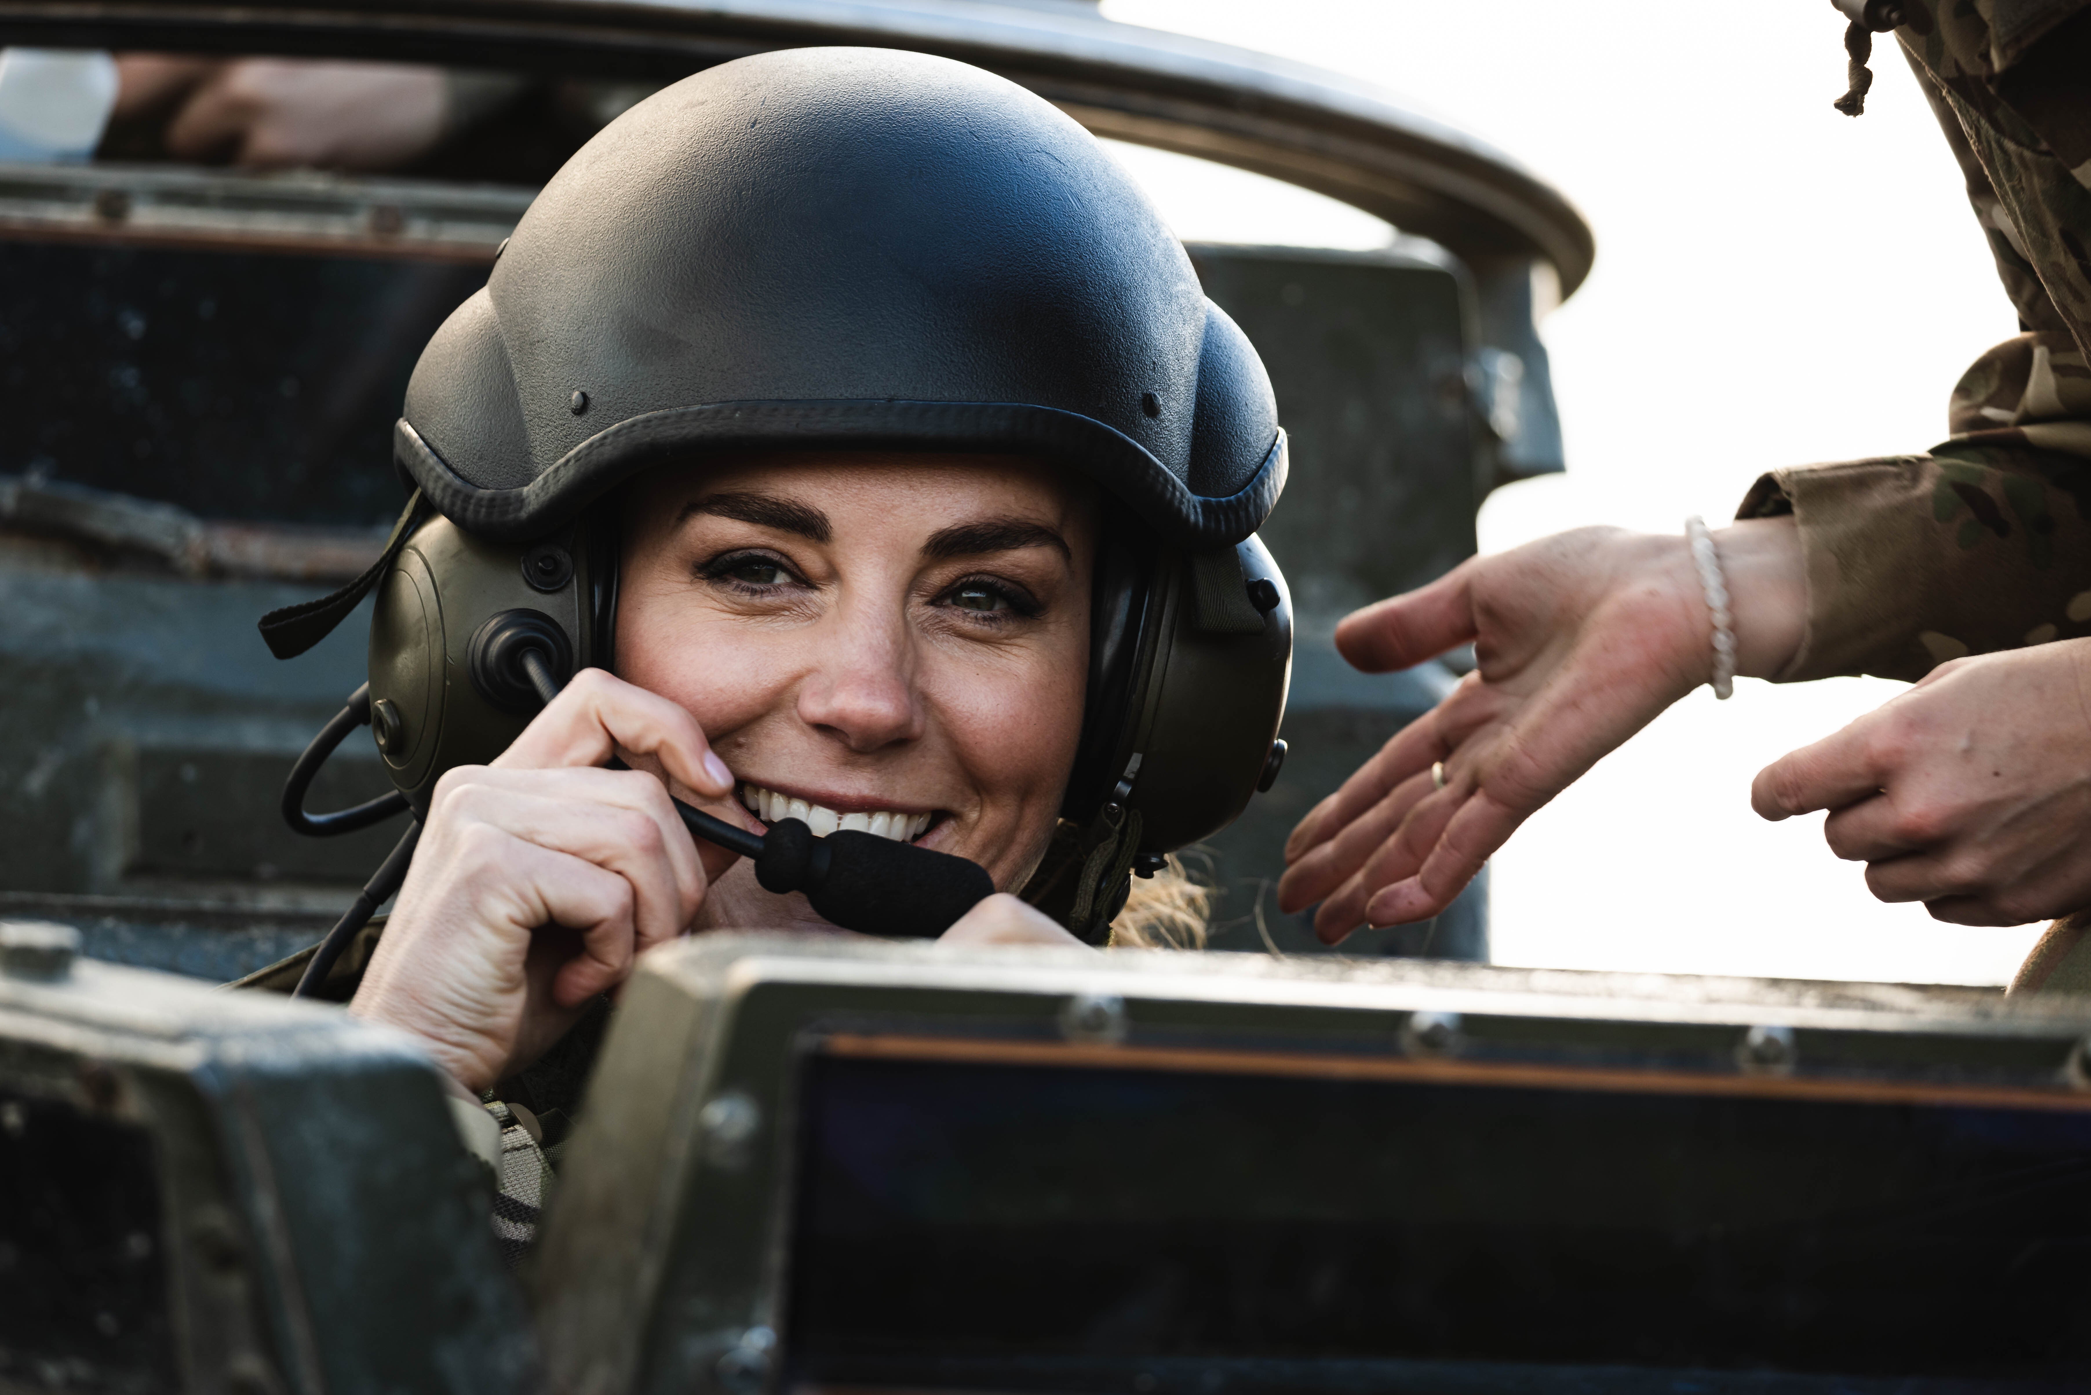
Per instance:
[[[1738,671],[1777,673],[1807,615],[1792,519],[1738,523],[1715,544]],[[1713,619],[1685,540],[1618,529],[1470,558],[1336,627],[1336,648],[1368,673],[1466,642],[1478,667],[1286,843],[1278,904],[1322,901],[1315,933],[1326,943],[1359,924],[1443,912],[1518,824],[1713,667]],[[1432,784],[1437,761],[1445,788]]]

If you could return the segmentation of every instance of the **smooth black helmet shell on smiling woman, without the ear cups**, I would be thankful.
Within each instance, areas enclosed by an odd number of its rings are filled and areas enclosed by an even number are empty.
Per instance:
[[[1269,379],[1075,121],[926,54],[803,48],[640,102],[429,343],[399,460],[535,538],[663,456],[1050,454],[1179,546],[1278,500]]]

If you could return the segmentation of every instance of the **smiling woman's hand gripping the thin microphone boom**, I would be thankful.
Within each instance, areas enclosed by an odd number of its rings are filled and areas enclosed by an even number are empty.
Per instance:
[[[730,801],[675,703],[583,669],[491,765],[445,774],[349,1010],[420,1037],[466,1090],[535,1060],[640,952],[688,929],[734,855],[698,847],[648,770]]]

